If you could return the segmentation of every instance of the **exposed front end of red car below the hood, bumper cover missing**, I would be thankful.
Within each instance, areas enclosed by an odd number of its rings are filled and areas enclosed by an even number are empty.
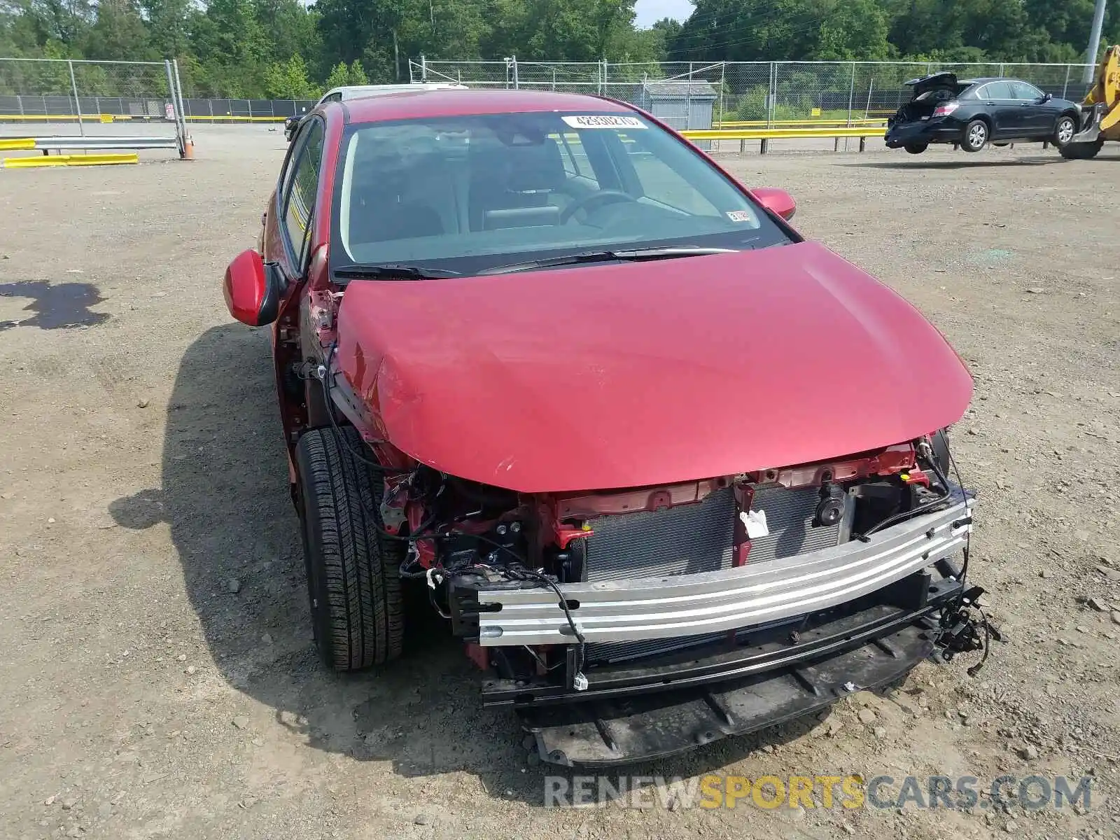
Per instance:
[[[937,432],[664,487],[447,479],[432,516],[455,524],[402,572],[427,580],[484,704],[515,710],[544,760],[653,758],[986,647],[965,584],[972,497],[950,472]]]

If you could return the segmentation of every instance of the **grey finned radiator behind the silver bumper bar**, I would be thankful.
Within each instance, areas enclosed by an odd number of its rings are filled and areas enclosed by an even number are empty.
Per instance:
[[[777,484],[756,487],[752,507],[766,512],[769,534],[750,541],[747,562],[766,562],[836,545],[844,526],[814,526],[819,502],[816,487],[786,489]],[[587,540],[587,579],[619,580],[729,569],[737,515],[735,491],[726,487],[696,504],[591,520],[589,524],[595,535]],[[622,662],[726,637],[726,633],[717,633],[640,642],[600,642],[587,646],[587,659],[591,662]]]

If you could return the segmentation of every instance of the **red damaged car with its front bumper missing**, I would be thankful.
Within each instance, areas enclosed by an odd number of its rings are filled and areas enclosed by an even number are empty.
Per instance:
[[[398,656],[414,578],[483,702],[601,765],[984,646],[969,373],[793,211],[597,96],[309,114],[225,297],[273,325],[326,662]]]

